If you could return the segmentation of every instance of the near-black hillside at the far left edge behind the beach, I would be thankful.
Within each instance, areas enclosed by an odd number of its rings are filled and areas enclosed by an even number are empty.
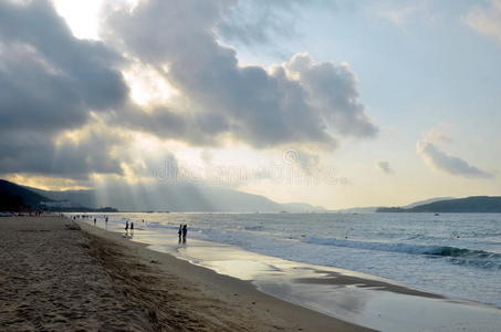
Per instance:
[[[22,186],[0,179],[0,210],[35,208],[41,201],[51,200],[52,199],[33,193]]]

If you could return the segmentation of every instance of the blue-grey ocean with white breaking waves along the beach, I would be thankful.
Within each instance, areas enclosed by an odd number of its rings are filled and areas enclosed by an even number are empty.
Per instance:
[[[102,214],[94,214],[102,225]],[[231,245],[501,308],[501,214],[108,214],[158,238]],[[143,222],[145,220],[145,222]]]

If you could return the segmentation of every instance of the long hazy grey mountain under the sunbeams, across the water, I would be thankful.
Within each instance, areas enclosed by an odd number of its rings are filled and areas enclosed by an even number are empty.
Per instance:
[[[189,183],[127,185],[115,183],[92,190],[51,191],[30,188],[54,200],[97,208],[112,206],[121,211],[178,212],[306,212],[324,210],[303,203],[279,204],[260,195],[217,186]]]

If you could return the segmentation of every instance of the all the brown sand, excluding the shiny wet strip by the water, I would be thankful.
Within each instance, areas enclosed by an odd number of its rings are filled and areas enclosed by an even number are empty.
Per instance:
[[[367,331],[81,227],[0,218],[0,331]]]

